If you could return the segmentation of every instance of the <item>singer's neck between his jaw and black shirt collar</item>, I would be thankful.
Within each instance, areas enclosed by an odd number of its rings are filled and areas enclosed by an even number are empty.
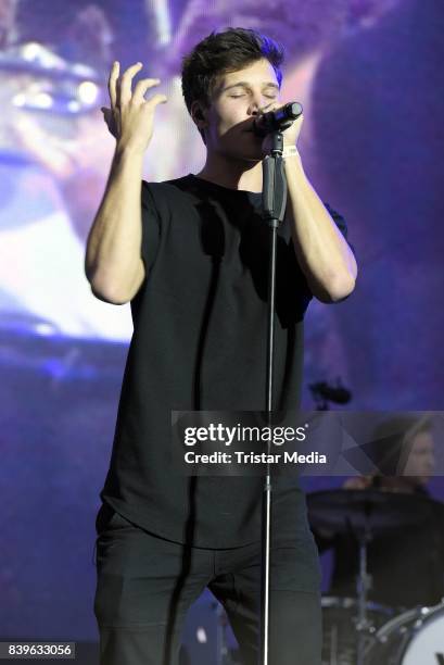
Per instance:
[[[208,154],[205,166],[196,176],[229,189],[262,191],[262,162],[237,161]]]

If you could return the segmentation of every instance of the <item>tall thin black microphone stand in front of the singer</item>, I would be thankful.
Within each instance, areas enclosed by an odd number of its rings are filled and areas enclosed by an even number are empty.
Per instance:
[[[277,230],[283,221],[287,203],[287,179],[283,171],[283,136],[279,129],[271,135],[271,154],[263,160],[263,216],[270,229],[268,264],[268,332],[265,411],[267,425],[271,425],[272,414],[272,372],[275,342],[275,291],[277,262]],[[267,454],[271,442],[267,441]],[[268,457],[267,457],[268,459]],[[269,576],[271,539],[271,472],[267,462],[262,501],[262,566],[261,566],[261,643],[259,665],[268,665],[269,638]]]

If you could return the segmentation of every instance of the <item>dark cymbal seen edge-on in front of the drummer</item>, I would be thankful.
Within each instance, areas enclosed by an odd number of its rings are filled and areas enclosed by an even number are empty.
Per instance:
[[[308,520],[314,529],[334,534],[380,532],[396,527],[420,525],[429,519],[442,522],[444,509],[439,501],[421,494],[379,489],[337,489],[307,494]]]

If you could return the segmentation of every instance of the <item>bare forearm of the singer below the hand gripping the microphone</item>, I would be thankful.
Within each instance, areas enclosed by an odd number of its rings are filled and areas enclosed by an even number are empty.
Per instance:
[[[294,251],[313,294],[321,302],[348,296],[357,275],[356,261],[322,201],[306,177],[300,154],[284,159]]]

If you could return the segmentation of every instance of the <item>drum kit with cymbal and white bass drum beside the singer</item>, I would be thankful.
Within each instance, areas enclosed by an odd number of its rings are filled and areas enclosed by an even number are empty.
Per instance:
[[[430,519],[444,525],[442,504],[418,494],[341,489],[307,494],[307,507],[314,530],[353,534],[359,552],[356,598],[322,598],[322,665],[444,665],[444,599],[406,611],[369,602],[367,564],[369,542],[388,530]]]

